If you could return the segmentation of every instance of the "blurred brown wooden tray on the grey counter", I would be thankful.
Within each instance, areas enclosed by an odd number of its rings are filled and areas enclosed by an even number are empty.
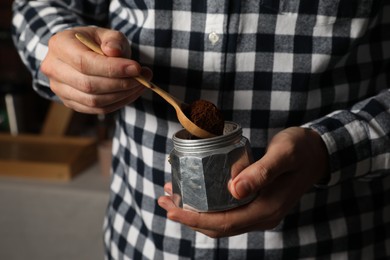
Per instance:
[[[0,134],[0,175],[67,181],[97,160],[94,138]]]

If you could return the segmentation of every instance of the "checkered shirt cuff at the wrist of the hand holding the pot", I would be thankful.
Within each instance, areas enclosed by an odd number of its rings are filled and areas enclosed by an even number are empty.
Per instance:
[[[303,127],[320,134],[329,153],[330,173],[316,187],[329,187],[362,177],[371,168],[368,130],[350,111],[336,111]]]

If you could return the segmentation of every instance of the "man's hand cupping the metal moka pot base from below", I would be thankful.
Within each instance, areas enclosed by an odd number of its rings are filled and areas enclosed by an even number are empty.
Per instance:
[[[237,199],[257,193],[242,207],[216,213],[197,213],[175,206],[172,196],[159,198],[169,219],[213,238],[276,227],[301,196],[326,177],[328,153],[321,137],[310,129],[288,128],[270,142],[266,154],[229,183]],[[171,184],[165,186],[172,195]]]

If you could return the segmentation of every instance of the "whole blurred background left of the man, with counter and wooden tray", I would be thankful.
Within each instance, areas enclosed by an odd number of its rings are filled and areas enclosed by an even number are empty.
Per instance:
[[[38,96],[0,2],[0,259],[103,259],[115,114]]]

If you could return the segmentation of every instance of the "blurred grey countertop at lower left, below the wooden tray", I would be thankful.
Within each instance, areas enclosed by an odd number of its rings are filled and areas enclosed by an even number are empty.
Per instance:
[[[0,259],[103,259],[108,187],[97,165],[68,183],[0,178]]]

